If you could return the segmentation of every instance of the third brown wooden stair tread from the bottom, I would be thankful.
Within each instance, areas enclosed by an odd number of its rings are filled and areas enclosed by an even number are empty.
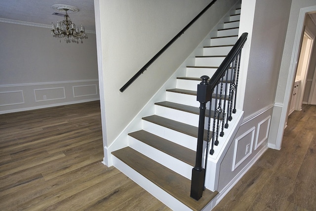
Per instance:
[[[143,117],[142,119],[146,120],[148,122],[157,124],[159,126],[167,127],[169,129],[173,129],[175,131],[178,131],[178,132],[181,132],[181,133],[184,133],[184,134],[187,134],[187,135],[190,135],[192,137],[196,137],[197,138],[198,127],[191,126],[191,125],[188,125],[188,124],[184,124],[184,123],[181,123],[181,122],[177,122],[177,121],[174,121],[174,120],[170,120],[170,119],[167,119],[167,118],[164,118],[164,117],[160,117],[158,115],[152,115],[152,116],[148,116],[148,117]],[[211,131],[210,131],[209,136],[212,137],[212,132]],[[203,139],[204,140],[207,139],[207,130],[206,129],[204,129],[204,137],[203,137]]]

